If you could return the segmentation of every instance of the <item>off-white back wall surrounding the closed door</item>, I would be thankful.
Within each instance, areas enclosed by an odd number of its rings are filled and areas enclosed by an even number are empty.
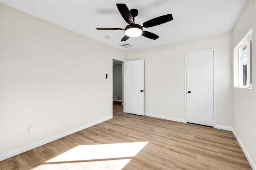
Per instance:
[[[232,127],[231,42],[223,33],[128,53],[128,60],[145,59],[144,112],[185,120],[184,53],[216,48],[216,124]]]

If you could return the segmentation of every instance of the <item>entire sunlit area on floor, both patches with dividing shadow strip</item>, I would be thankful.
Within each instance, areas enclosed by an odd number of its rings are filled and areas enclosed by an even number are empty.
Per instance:
[[[122,170],[148,142],[79,145],[37,166],[40,169]]]

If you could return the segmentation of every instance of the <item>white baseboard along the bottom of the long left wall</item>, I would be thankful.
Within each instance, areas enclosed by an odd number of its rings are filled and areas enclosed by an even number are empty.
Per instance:
[[[28,145],[28,146],[26,146],[26,147],[23,147],[23,148],[20,148],[20,149],[17,149],[17,150],[8,152],[8,153],[6,153],[6,154],[0,155],[0,161],[1,161],[1,160],[4,160],[4,159],[7,159],[7,158],[10,158],[10,157],[12,157],[12,156],[15,156],[15,155],[17,155],[17,154],[21,154],[21,153],[26,152],[26,151],[28,151],[28,150],[31,150],[31,149],[40,147],[40,146],[42,146],[42,145],[45,145],[46,143],[50,143],[50,142],[52,142],[52,141],[55,141],[55,140],[60,139],[60,138],[62,138],[62,137],[71,135],[72,133],[76,133],[76,132],[78,132],[78,131],[81,131],[81,130],[86,129],[86,128],[88,128],[88,127],[91,127],[91,126],[93,126],[93,125],[97,125],[98,123],[107,121],[107,120],[112,119],[112,118],[113,118],[113,116],[105,117],[105,118],[100,119],[100,120],[98,120],[98,121],[94,121],[94,122],[89,123],[89,124],[87,124],[87,125],[78,127],[78,128],[76,128],[76,129],[73,129],[73,130],[71,130],[71,131],[67,131],[67,132],[65,132],[65,133],[62,133],[62,134],[60,134],[60,135],[56,135],[56,136],[54,136],[54,137],[50,137],[50,138],[45,139],[45,140],[43,140],[43,141],[40,141],[40,142],[37,142],[37,143],[33,143],[32,145]]]

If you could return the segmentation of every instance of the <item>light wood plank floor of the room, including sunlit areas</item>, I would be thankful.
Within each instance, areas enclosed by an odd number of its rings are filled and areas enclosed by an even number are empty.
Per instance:
[[[122,109],[114,102],[113,119],[3,160],[0,169],[251,169],[230,131]]]

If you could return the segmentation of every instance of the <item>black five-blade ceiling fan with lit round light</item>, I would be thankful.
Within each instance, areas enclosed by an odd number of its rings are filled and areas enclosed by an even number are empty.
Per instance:
[[[143,31],[142,27],[148,28],[148,27],[153,27],[156,25],[160,25],[162,23],[166,23],[168,21],[172,21],[172,14],[167,14],[164,16],[159,16],[157,18],[153,18],[152,20],[148,20],[143,23],[143,25],[139,25],[134,23],[134,17],[138,16],[138,10],[136,9],[131,9],[129,11],[128,7],[126,4],[116,4],[120,14],[124,18],[124,20],[129,24],[125,27],[125,29],[122,28],[96,28],[98,30],[124,30],[125,36],[121,39],[121,41],[126,41],[130,37],[138,37],[140,35],[150,38],[150,39],[158,39],[159,36],[148,32],[148,31]]]

